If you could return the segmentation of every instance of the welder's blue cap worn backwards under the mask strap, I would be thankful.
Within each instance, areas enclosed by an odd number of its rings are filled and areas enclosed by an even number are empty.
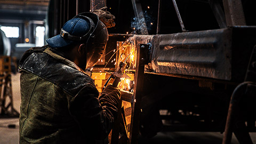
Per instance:
[[[91,26],[89,20],[82,18],[73,18],[67,21],[62,29],[67,31],[70,35],[82,37],[88,33],[90,27]],[[60,35],[46,39],[46,43],[51,47],[64,47],[70,44],[74,44],[76,42],[77,41],[70,41],[69,39],[65,39]]]

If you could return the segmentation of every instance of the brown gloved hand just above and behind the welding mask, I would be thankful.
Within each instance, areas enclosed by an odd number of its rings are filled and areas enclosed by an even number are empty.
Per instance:
[[[107,7],[103,7],[100,10],[95,10],[93,13],[98,15],[100,21],[103,22],[107,28],[115,26],[115,16],[107,11]]]

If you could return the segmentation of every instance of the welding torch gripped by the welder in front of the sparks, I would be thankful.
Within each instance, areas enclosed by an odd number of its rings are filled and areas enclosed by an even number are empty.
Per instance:
[[[128,55],[128,57],[125,59],[125,61],[130,57],[130,55],[131,55],[131,53]],[[124,70],[125,70],[125,67],[127,65],[125,63],[125,61],[124,62],[120,61],[116,71],[115,72],[110,72],[111,76],[108,78],[107,82],[104,84],[102,91],[108,85],[108,83],[111,80],[111,78],[114,78],[114,82],[112,84],[113,87],[117,87],[118,86],[118,83],[119,83],[119,81],[120,81],[120,79],[122,77],[129,78],[129,79],[131,78],[128,75],[124,74]]]

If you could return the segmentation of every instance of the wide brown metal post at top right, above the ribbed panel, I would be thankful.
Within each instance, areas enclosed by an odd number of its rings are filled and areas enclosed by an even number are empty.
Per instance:
[[[241,0],[223,0],[227,26],[245,26],[245,17]]]

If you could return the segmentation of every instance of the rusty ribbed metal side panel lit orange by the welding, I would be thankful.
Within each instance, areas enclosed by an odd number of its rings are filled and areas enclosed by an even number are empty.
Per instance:
[[[153,73],[231,79],[230,29],[159,35],[153,38]]]

